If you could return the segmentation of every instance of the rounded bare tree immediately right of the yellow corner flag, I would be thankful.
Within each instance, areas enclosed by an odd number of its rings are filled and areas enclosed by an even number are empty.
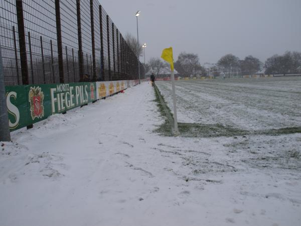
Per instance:
[[[175,62],[175,69],[182,76],[187,77],[201,72],[202,66],[197,54],[182,52],[178,56],[178,60]]]

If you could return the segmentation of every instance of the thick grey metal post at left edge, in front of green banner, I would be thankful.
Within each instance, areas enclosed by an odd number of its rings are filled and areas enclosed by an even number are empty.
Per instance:
[[[6,92],[4,83],[4,70],[0,43],[0,141],[11,141],[9,128],[9,114],[6,103]]]

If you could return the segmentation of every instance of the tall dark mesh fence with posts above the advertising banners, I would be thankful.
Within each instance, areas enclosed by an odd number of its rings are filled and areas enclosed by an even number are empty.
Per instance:
[[[6,85],[138,79],[98,0],[0,0],[0,42]]]

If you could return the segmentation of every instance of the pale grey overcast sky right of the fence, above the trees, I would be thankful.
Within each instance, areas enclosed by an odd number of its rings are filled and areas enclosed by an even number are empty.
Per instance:
[[[261,61],[273,54],[301,52],[301,0],[99,0],[123,36],[136,33],[147,44],[146,62],[164,48],[216,63],[232,53]],[[140,58],[143,62],[143,57]]]

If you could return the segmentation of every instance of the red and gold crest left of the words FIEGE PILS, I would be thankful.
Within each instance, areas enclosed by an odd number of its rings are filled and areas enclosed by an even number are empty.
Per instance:
[[[44,93],[41,88],[39,86],[37,88],[36,86],[30,87],[28,97],[32,119],[42,119],[44,117]]]

